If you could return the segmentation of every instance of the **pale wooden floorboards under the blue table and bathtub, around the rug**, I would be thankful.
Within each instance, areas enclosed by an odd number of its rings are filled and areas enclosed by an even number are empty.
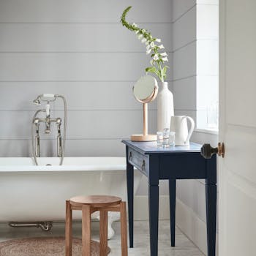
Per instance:
[[[92,236],[98,240],[99,222],[93,222]],[[73,225],[74,236],[80,237],[80,223]],[[113,224],[116,235],[108,242],[111,248],[110,256],[119,256],[120,252],[120,225],[119,222]],[[176,247],[170,247],[170,228],[168,221],[159,222],[159,256],[203,256],[203,253],[192,244],[189,239],[176,227]],[[64,236],[64,224],[53,223],[53,229],[49,232],[41,231],[37,228],[12,228],[5,224],[0,225],[0,241],[12,238],[38,237],[38,236]],[[149,255],[149,232],[148,222],[135,222],[135,248],[129,248],[129,256]]]

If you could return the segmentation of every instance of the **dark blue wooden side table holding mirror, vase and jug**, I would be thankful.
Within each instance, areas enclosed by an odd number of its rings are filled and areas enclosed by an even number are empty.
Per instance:
[[[148,177],[148,209],[151,256],[158,255],[159,180],[169,180],[170,237],[175,246],[176,180],[206,179],[206,222],[208,256],[215,256],[217,211],[217,159],[204,159],[201,146],[157,148],[157,142],[122,140],[127,150],[127,194],[129,214],[129,246],[133,247],[134,167]]]

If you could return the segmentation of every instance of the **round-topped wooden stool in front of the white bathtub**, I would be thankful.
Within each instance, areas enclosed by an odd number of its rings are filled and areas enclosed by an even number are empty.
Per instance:
[[[91,214],[99,211],[99,256],[107,256],[108,211],[120,211],[121,256],[128,255],[127,208],[120,197],[91,195],[66,201],[66,256],[72,256],[72,210],[82,211],[82,256],[91,256]]]

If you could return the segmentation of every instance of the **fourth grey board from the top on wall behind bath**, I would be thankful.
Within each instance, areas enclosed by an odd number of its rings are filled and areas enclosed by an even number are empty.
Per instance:
[[[42,93],[61,94],[67,98],[68,110],[142,110],[132,94],[134,81],[104,82],[0,82],[0,110],[37,110],[32,103]],[[26,94],[24,93],[26,91]],[[43,108],[43,105],[42,107]],[[62,110],[61,99],[52,108]],[[157,109],[157,101],[148,104]]]

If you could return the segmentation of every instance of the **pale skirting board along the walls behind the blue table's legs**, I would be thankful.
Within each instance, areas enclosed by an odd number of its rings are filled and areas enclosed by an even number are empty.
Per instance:
[[[141,211],[143,209],[143,211]],[[148,197],[135,196],[135,220],[148,219]],[[169,215],[169,196],[159,197],[159,219],[170,219]],[[202,252],[207,255],[206,222],[197,217],[189,206],[176,199],[176,225]],[[218,234],[217,249],[218,255]]]

